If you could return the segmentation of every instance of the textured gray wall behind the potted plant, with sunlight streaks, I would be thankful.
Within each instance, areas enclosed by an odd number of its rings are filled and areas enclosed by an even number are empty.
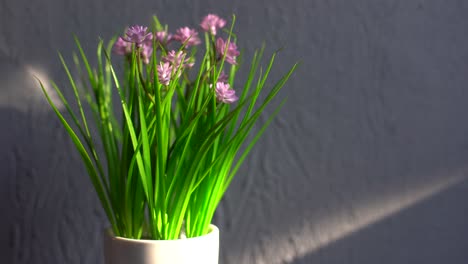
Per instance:
[[[302,61],[216,214],[220,263],[467,263],[464,0],[0,1],[1,263],[102,263],[103,211],[31,73],[65,83],[72,33],[92,51],[207,12],[237,14],[248,54],[284,47],[273,76]]]

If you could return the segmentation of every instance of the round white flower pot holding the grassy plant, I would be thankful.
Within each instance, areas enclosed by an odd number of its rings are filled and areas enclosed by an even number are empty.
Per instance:
[[[218,264],[219,230],[177,240],[145,240],[104,235],[106,264]]]

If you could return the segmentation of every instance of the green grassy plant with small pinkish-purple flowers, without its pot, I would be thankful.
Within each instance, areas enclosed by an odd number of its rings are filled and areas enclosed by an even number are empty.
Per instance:
[[[240,52],[234,21],[235,16],[226,29],[219,16],[204,17],[200,53],[195,29],[171,34],[154,17],[150,29],[132,26],[108,45],[100,41],[96,68],[75,37],[73,58],[81,78],[73,77],[59,54],[75,110],[52,83],[67,117],[39,81],[86,166],[115,236],[173,240],[208,233],[234,175],[284,104],[252,129],[297,65],[262,94],[276,53],[262,69],[261,48],[245,84],[235,83]]]

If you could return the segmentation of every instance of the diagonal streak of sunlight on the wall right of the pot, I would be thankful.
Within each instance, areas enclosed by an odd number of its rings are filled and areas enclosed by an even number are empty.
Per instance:
[[[291,228],[285,238],[279,238],[268,246],[268,263],[289,263],[296,258],[316,252],[321,248],[343,239],[369,225],[377,223],[404,209],[416,205],[467,179],[466,173],[459,171],[440,175],[433,181],[387,197],[356,205],[352,214],[343,212],[329,219],[305,219],[298,229]]]

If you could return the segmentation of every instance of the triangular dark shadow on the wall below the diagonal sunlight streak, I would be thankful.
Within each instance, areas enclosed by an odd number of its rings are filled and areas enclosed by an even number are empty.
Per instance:
[[[468,211],[467,192],[463,177],[440,193],[287,263],[466,263],[468,215],[458,212]]]

